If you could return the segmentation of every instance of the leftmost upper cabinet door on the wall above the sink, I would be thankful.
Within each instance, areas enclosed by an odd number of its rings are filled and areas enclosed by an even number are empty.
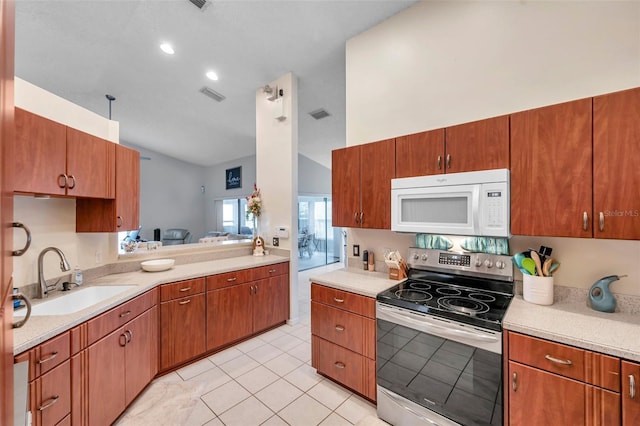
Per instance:
[[[64,195],[66,126],[16,108],[15,192]],[[59,183],[62,183],[60,187]]]

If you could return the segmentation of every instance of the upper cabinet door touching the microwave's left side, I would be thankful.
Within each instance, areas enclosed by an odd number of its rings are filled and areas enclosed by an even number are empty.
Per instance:
[[[395,139],[368,143],[361,148],[360,225],[370,229],[391,229],[391,179],[396,175]]]

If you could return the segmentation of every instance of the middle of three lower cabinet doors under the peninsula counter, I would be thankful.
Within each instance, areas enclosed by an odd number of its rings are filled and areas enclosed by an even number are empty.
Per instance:
[[[250,283],[207,292],[207,350],[253,332],[251,293]]]

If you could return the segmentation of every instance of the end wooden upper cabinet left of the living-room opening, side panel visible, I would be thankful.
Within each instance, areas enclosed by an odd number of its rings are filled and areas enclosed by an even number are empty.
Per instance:
[[[120,232],[140,226],[140,153],[115,145],[115,199],[76,200],[76,232]]]

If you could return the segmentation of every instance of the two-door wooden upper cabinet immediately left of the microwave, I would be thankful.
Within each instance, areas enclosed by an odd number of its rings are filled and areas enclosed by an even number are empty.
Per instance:
[[[395,139],[332,152],[334,226],[391,229]]]

